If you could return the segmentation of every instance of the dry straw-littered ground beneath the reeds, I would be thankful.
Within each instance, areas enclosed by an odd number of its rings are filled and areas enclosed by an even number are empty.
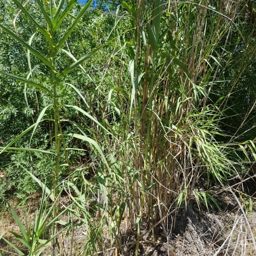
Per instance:
[[[255,192],[256,186],[250,187],[250,194]],[[248,186],[247,186],[248,188]],[[216,201],[218,202],[222,211],[220,211],[216,205],[212,203],[212,207],[209,205],[209,211],[205,204],[200,205],[200,209],[195,199],[190,200],[189,204],[181,206],[177,213],[174,227],[174,214],[168,216],[165,220],[167,227],[168,237],[164,235],[163,228],[159,224],[155,228],[155,241],[152,241],[152,233],[150,231],[151,224],[149,220],[142,220],[141,234],[148,234],[143,236],[140,241],[139,255],[147,256],[249,256],[256,255],[256,207],[253,202],[252,212],[249,212],[249,208],[246,204],[243,204],[241,198],[237,193],[237,197],[241,202],[241,205],[246,213],[244,216],[241,207],[238,205],[237,200],[229,191],[222,189],[216,189],[209,191]],[[62,196],[60,200],[62,205],[69,204],[68,196]],[[16,207],[17,200],[11,200],[12,207],[15,208],[17,215],[21,221],[25,224],[24,206]],[[28,200],[27,205],[27,218],[28,222],[34,219],[36,208],[40,204],[40,195],[35,195],[34,198]],[[97,216],[92,221],[98,221]],[[64,215],[63,220],[67,221],[68,216]],[[102,245],[102,250],[105,251],[100,255],[125,255],[132,256],[135,253],[134,241],[136,241],[137,229],[133,228],[130,232],[127,232],[125,222],[121,222],[120,226],[120,245],[121,247],[116,250],[109,250],[109,234],[107,227],[105,228],[104,239],[105,244]],[[129,223],[128,223],[129,226]],[[0,233],[4,233],[8,230],[20,232],[17,224],[15,223],[10,212],[0,213]],[[104,230],[103,230],[104,231]],[[47,234],[45,234],[47,237]],[[10,242],[21,246],[10,233],[5,233],[4,237]],[[255,239],[253,239],[255,238]],[[87,231],[82,225],[80,228],[73,230],[73,239],[69,240],[63,233],[58,237],[60,244],[62,244],[62,251],[60,255],[70,255],[70,247],[72,244],[73,255],[85,255],[83,254],[83,248],[87,241]],[[67,253],[68,242],[68,253]],[[114,247],[114,245],[113,245]],[[12,249],[10,246],[0,241],[0,249],[4,256],[12,255]],[[116,251],[115,251],[116,250]],[[9,252],[5,252],[9,251]],[[45,253],[50,253],[50,248],[46,249]],[[73,256],[72,255],[72,256]]]

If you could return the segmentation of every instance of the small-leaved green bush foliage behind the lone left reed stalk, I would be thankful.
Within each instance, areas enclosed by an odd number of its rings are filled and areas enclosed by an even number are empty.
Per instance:
[[[12,2],[4,2],[1,5],[1,20],[4,21],[4,25],[8,26],[13,30],[12,21],[16,16],[19,9],[14,9],[15,6]],[[27,5],[29,12],[34,15],[38,20],[43,22],[43,16],[38,11],[36,2],[30,2]],[[77,15],[81,10],[82,5],[76,4],[76,7],[70,13],[71,15]],[[65,29],[71,22],[74,20],[72,16],[68,16],[68,19],[64,20],[61,24],[61,28]],[[91,24],[92,26],[91,26]],[[36,31],[36,28],[31,26],[31,22],[28,20],[26,15],[22,12],[18,16],[17,21],[17,32],[20,37],[24,38],[25,41],[29,41],[30,37]],[[20,26],[20,24],[22,24]],[[90,11],[88,12],[73,31],[71,38],[68,39],[67,45],[68,48],[72,52],[76,59],[79,59],[86,52],[91,52],[95,47],[100,46],[100,41],[104,40],[106,35],[111,31],[112,26],[114,24],[111,16],[103,16],[100,11]],[[84,32],[83,33],[81,33]],[[12,39],[11,36],[5,34],[1,30],[1,47],[3,51],[1,53],[1,70],[13,72],[16,75],[23,74],[26,76],[29,72],[28,70],[28,60],[27,60],[27,52],[24,47],[17,42],[15,39]],[[86,33],[86,34],[85,34]],[[36,48],[39,51],[47,53],[47,44],[45,44],[44,39],[40,37],[34,37],[32,45],[36,45]],[[11,48],[9,46],[12,46]],[[104,62],[104,61],[103,61]],[[31,63],[32,68],[35,68],[35,76],[40,81],[44,81],[47,83],[47,76],[49,77],[49,71],[42,70],[42,65],[40,66],[40,61],[31,55]],[[73,60],[71,58],[67,58],[67,55],[58,56],[57,65],[60,70],[63,70],[64,67],[72,64]],[[71,72],[71,74],[67,77],[69,83],[72,83],[74,86],[77,86],[83,91],[95,91],[94,85],[95,81],[100,80],[100,72],[101,64],[97,56],[95,56],[94,60],[86,63],[86,74],[81,70],[76,70]],[[91,74],[93,73],[93,78],[91,78]],[[90,75],[91,76],[90,76]],[[79,77],[79,79],[77,79]],[[89,79],[88,79],[89,78]],[[1,75],[1,135],[0,141],[2,146],[8,144],[12,141],[17,135],[19,135],[23,130],[26,130],[30,125],[35,123],[40,111],[45,108],[48,104],[52,103],[51,99],[44,94],[44,92],[36,91],[34,88],[26,86],[24,88],[24,84],[17,83],[15,80],[4,77]],[[79,102],[79,99],[76,99],[76,92],[72,90],[70,87],[63,86],[61,92],[61,101],[68,105],[77,105],[80,107],[84,107],[84,109],[88,110],[88,106],[85,106],[83,102]],[[94,92],[95,93],[95,92]],[[97,92],[98,94],[98,92]],[[95,95],[96,96],[96,95]],[[93,101],[93,98],[92,98]],[[99,113],[100,116],[101,113]],[[69,118],[73,121],[77,121],[79,118],[77,116],[76,111],[68,111],[65,109],[63,112],[64,118]],[[86,122],[88,120],[84,120]],[[83,125],[82,125],[83,126]],[[67,127],[68,129],[68,127]],[[70,129],[70,128],[69,128]],[[31,147],[38,148],[49,148],[52,145],[52,142],[49,141],[52,137],[52,123],[46,122],[41,124],[36,131],[35,139],[32,141]],[[21,140],[16,142],[16,147],[28,147],[30,135],[25,135]],[[83,155],[83,154],[82,154]],[[73,157],[73,161],[81,161],[80,154],[75,154]],[[79,160],[78,160],[79,159]],[[44,179],[47,179],[49,182],[51,178],[48,176],[51,174],[52,169],[51,166],[47,166],[47,159],[42,155],[30,155],[27,153],[13,152],[4,155],[1,159],[3,166],[5,168],[2,170],[6,171],[7,180],[1,180],[3,184],[2,186],[2,197],[1,199],[4,202],[5,192],[7,195],[17,195],[20,198],[26,198],[27,196],[36,192],[38,187],[35,187],[34,182],[31,180],[31,177],[27,174],[26,171],[20,166],[20,163],[26,162],[25,165],[31,172],[35,173],[36,176]],[[44,164],[43,164],[44,163]],[[14,171],[15,170],[15,171]],[[47,178],[48,177],[48,178]],[[14,189],[15,188],[15,189]],[[2,204],[3,206],[4,204]]]

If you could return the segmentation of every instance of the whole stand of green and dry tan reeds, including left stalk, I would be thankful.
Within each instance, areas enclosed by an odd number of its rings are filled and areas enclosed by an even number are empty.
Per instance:
[[[33,234],[31,225],[24,227],[10,207],[22,233],[14,236],[29,255],[40,255],[50,244],[52,255],[59,255],[58,235],[64,230],[67,236],[74,235],[83,226],[86,244],[80,254],[115,251],[118,255],[127,243],[135,246],[137,256],[142,238],[149,236],[157,243],[160,228],[168,244],[180,209],[188,214],[191,202],[197,203],[199,211],[203,207],[221,211],[211,187],[230,189],[230,180],[242,182],[256,160],[255,141],[249,135],[248,140],[239,140],[255,127],[244,125],[252,119],[256,101],[247,104],[248,111],[235,131],[234,127],[228,130],[227,123],[236,116],[231,95],[239,91],[237,85],[256,51],[254,6],[244,0],[138,0],[109,4],[107,14],[93,16],[92,0],[85,5],[37,0],[33,4],[43,20],[38,21],[29,6],[14,2],[36,30],[26,41],[16,27],[0,24],[3,33],[22,45],[28,62],[26,74],[18,76],[15,70],[0,70],[0,74],[24,84],[25,92],[26,87],[40,92],[47,104],[35,121],[32,118],[34,124],[1,147],[0,154],[28,151],[31,159],[39,154],[46,161],[42,166],[52,166],[47,184],[22,167],[43,191]],[[108,29],[104,15],[113,25]],[[72,33],[80,27],[85,37],[92,35],[94,40],[84,56],[71,48]],[[93,37],[103,28],[108,31],[104,42]],[[44,37],[47,47],[37,50],[33,44],[37,36]],[[244,52],[237,64],[239,45]],[[37,66],[32,65],[32,54],[40,62]],[[36,70],[41,66],[44,71],[39,76]],[[67,90],[75,93],[74,104],[69,96],[62,97]],[[25,97],[28,103],[26,93]],[[44,123],[49,124],[47,146],[31,147]],[[28,146],[15,146],[28,132]],[[196,188],[199,180],[205,182],[201,190]],[[61,193],[72,202],[63,210]],[[42,208],[46,197],[52,201],[48,212]],[[59,220],[64,213],[69,216],[66,223]],[[148,230],[142,232],[145,225]],[[51,237],[41,241],[45,228],[51,229]],[[252,232],[248,236],[253,239]]]

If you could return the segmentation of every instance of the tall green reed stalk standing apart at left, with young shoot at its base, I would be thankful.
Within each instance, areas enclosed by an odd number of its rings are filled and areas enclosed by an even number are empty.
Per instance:
[[[85,115],[92,122],[95,122],[97,125],[99,125],[99,127],[101,127],[102,130],[105,130],[105,132],[108,132],[107,129],[102,124],[100,124],[94,117],[92,117],[89,113],[87,113],[83,109],[79,108],[78,106],[65,105],[65,103],[60,104],[62,99],[59,97],[59,94],[64,85],[63,80],[67,77],[67,75],[70,72],[72,72],[76,67],[81,66],[81,64],[85,60],[90,59],[100,49],[102,49],[103,46],[105,46],[106,44],[103,44],[102,46],[96,48],[92,52],[87,53],[79,60],[76,60],[70,52],[67,52],[65,49],[63,49],[63,47],[65,47],[65,45],[67,44],[66,40],[71,35],[72,31],[76,28],[76,25],[79,23],[81,18],[87,12],[88,8],[90,7],[90,5],[92,3],[92,0],[87,1],[87,3],[83,6],[83,8],[81,9],[81,11],[78,13],[78,15],[76,17],[72,16],[73,20],[65,30],[63,30],[63,28],[61,28],[61,24],[63,23],[63,20],[67,19],[67,17],[70,15],[69,12],[76,4],[76,1],[72,0],[72,1],[69,1],[68,3],[65,3],[64,0],[61,0],[61,1],[59,1],[58,5],[56,5],[56,2],[53,0],[46,1],[45,3],[42,3],[40,0],[36,1],[37,8],[39,9],[39,12],[40,12],[43,22],[41,22],[41,20],[40,21],[36,20],[36,18],[34,18],[30,14],[30,12],[26,9],[26,7],[24,7],[23,4],[20,3],[18,0],[14,0],[14,2],[17,5],[17,7],[20,9],[18,14],[22,13],[22,15],[25,15],[26,18],[29,20],[29,22],[31,22],[31,24],[33,24],[33,26],[35,26],[35,28],[36,28],[35,33],[31,36],[29,42],[26,42],[23,38],[21,38],[19,36],[19,34],[17,33],[16,27],[14,28],[16,33],[13,31],[12,28],[5,26],[4,23],[0,24],[0,28],[5,33],[9,34],[9,36],[11,36],[17,42],[22,44],[22,46],[26,49],[27,57],[28,57],[27,60],[28,60],[29,73],[28,73],[28,75],[23,74],[21,76],[17,76],[12,73],[0,71],[0,74],[10,77],[16,81],[19,81],[22,84],[24,84],[25,86],[35,87],[36,89],[40,90],[40,92],[42,92],[46,97],[48,97],[50,104],[48,104],[45,108],[43,108],[41,110],[36,122],[33,125],[29,126],[25,131],[20,133],[20,135],[17,136],[14,140],[12,140],[8,145],[3,147],[0,154],[4,153],[5,151],[10,150],[10,149],[12,149],[12,150],[27,150],[27,151],[32,151],[32,152],[34,151],[34,152],[42,153],[42,154],[46,154],[46,155],[49,154],[49,155],[53,155],[52,158],[47,157],[49,160],[49,164],[55,166],[53,173],[52,173],[52,189],[47,190],[48,194],[52,193],[51,199],[54,203],[52,204],[52,207],[50,208],[49,212],[46,214],[46,217],[45,217],[46,219],[44,219],[42,225],[40,223],[40,224],[38,224],[39,225],[38,226],[35,223],[34,231],[33,231],[34,233],[33,232],[31,233],[31,228],[29,228],[27,231],[25,231],[25,229],[23,228],[17,215],[15,215],[15,212],[11,209],[12,213],[15,217],[15,220],[19,224],[19,227],[20,227],[24,237],[21,237],[17,234],[16,235],[14,234],[14,235],[16,237],[18,237],[18,239],[20,239],[20,241],[25,246],[28,247],[29,255],[31,255],[31,256],[32,255],[40,255],[40,253],[42,252],[44,247],[48,245],[49,241],[52,243],[52,245],[51,245],[52,255],[58,255],[58,249],[60,249],[60,248],[58,248],[59,244],[56,241],[56,236],[58,234],[60,234],[60,230],[58,228],[57,220],[60,217],[60,215],[63,214],[63,212],[60,213],[59,202],[58,202],[58,198],[59,198],[58,190],[59,190],[59,187],[61,184],[60,183],[60,181],[61,181],[60,180],[60,171],[62,171],[63,168],[67,168],[71,174],[67,150],[73,150],[73,148],[67,148],[67,146],[66,146],[67,139],[66,138],[67,137],[71,138],[71,139],[76,138],[76,139],[83,140],[83,141],[86,141],[87,143],[89,143],[97,151],[97,154],[100,154],[100,156],[102,157],[102,161],[106,164],[107,169],[111,172],[111,169],[108,166],[108,162],[103,154],[102,149],[98,145],[98,143],[95,140],[87,137],[87,135],[84,133],[84,131],[75,122],[73,122],[71,120],[63,120],[61,117],[62,109],[63,108],[75,109],[77,112]],[[66,5],[64,5],[64,4],[66,4]],[[17,17],[15,17],[15,19],[16,18]],[[18,24],[15,23],[15,20],[14,20],[14,26],[15,26],[15,24],[18,26]],[[36,38],[37,36],[39,38],[43,37],[42,43],[44,42],[44,44],[45,44],[44,48],[43,48],[45,51],[37,50],[36,45],[33,44],[33,39]],[[45,76],[42,78],[42,80],[38,79],[38,78],[40,78],[40,76],[37,76],[34,72],[35,68],[32,68],[32,65],[31,65],[31,55],[32,54],[35,55],[36,58],[38,58],[41,61],[40,65],[44,66],[45,70],[47,70],[47,72],[46,72]],[[65,57],[65,58],[71,58],[73,63],[71,65],[68,65],[64,69],[62,69],[61,67],[59,67],[56,64],[56,60],[61,55],[63,55],[63,57]],[[84,70],[84,72],[86,73],[85,70]],[[50,74],[50,76],[48,76],[47,73]],[[70,85],[76,92],[78,92],[78,94],[85,101],[84,97],[81,95],[79,90],[74,85],[72,85],[72,84],[68,84],[68,85]],[[52,110],[52,112],[51,112],[52,115],[47,116],[44,119],[45,113],[48,109]],[[54,127],[53,128],[54,132],[53,132],[52,138],[50,139],[50,140],[52,140],[51,144],[53,145],[51,150],[33,149],[30,147],[29,148],[15,148],[15,147],[11,148],[11,146],[17,140],[19,140],[23,135],[25,135],[27,132],[32,130],[31,139],[30,139],[30,143],[31,143],[31,141],[33,141],[33,136],[35,134],[36,129],[38,128],[38,125],[40,125],[41,123],[43,123],[45,121],[52,122],[53,127]],[[79,134],[77,134],[76,132],[72,132],[72,133],[63,132],[62,125],[63,125],[63,123],[67,123],[67,122],[74,125],[74,127],[77,127]],[[98,171],[97,175],[99,174],[98,176],[99,176],[100,188],[102,189],[102,193],[106,194],[105,193],[106,187],[104,187],[104,185],[105,185],[104,178],[103,178],[103,180],[101,180],[102,176],[103,176],[103,171],[101,169],[97,169],[97,171]],[[38,183],[40,183],[40,181],[37,178],[35,178],[34,176],[33,176],[33,178]],[[51,192],[51,190],[52,190],[52,192]],[[44,193],[45,193],[45,190],[44,190]],[[43,201],[44,201],[44,194],[43,194]],[[44,205],[43,201],[41,204],[41,208]],[[37,217],[38,216],[36,214],[35,221],[37,221]],[[38,217],[39,220],[41,219],[41,217],[43,217],[42,209],[40,209],[40,211],[39,211],[39,217]],[[43,225],[46,223],[47,220],[50,220],[50,218],[52,219],[52,221],[50,221],[50,223],[52,225],[51,237],[50,237],[49,241],[46,241],[46,242],[41,241],[42,245],[40,245],[39,247],[36,247],[37,243],[38,242],[40,243],[40,241],[38,239],[41,234],[41,229],[42,230],[45,229],[43,227]],[[49,226],[49,224],[47,224],[46,227],[48,228],[48,226]],[[63,229],[61,231],[63,231]],[[7,243],[9,243],[6,239],[5,239],[5,241]],[[16,250],[14,245],[13,245],[13,248]],[[19,250],[16,250],[16,251],[18,253],[20,253]]]

